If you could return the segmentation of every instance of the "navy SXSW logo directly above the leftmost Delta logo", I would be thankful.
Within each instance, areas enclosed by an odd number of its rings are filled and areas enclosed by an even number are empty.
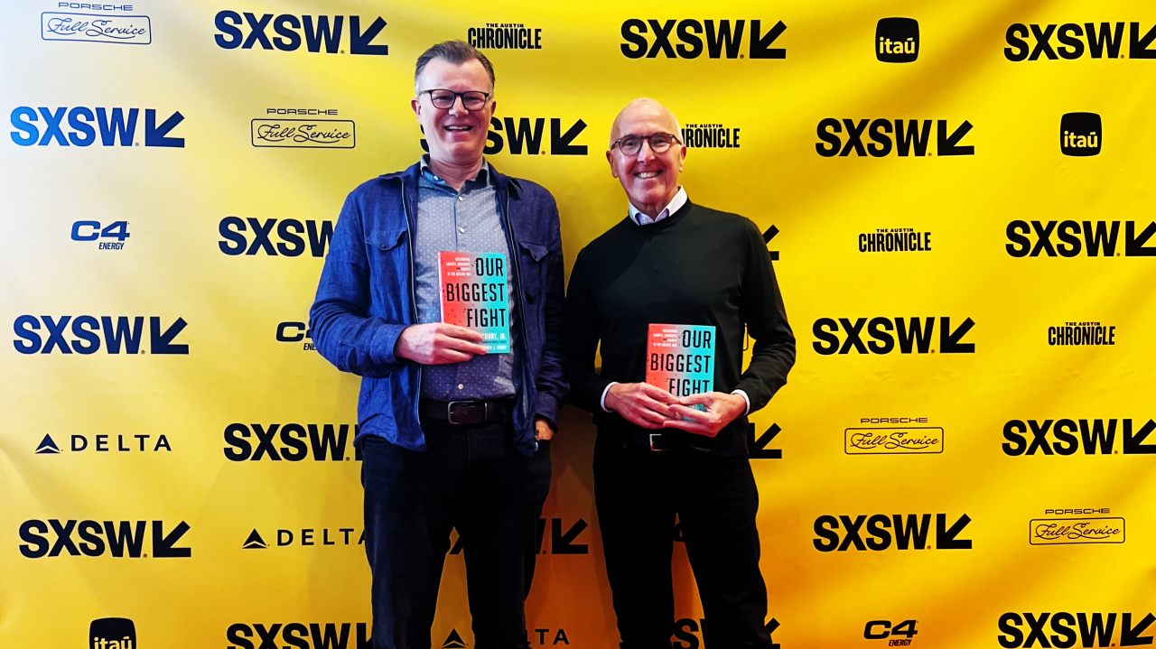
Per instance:
[[[60,353],[90,355],[99,351],[103,342],[108,353],[188,353],[187,344],[173,342],[188,324],[184,318],[177,318],[162,331],[161,316],[149,316],[148,350],[141,349],[143,315],[134,316],[131,326],[127,315],[117,316],[116,324],[113,324],[112,318],[111,315],[102,315],[97,320],[92,315],[77,315],[75,318],[61,315],[58,319],[53,319],[51,315],[20,315],[13,324],[13,329],[18,336],[17,340],[13,341],[13,346],[20,353],[52,353],[54,350],[60,350]],[[44,322],[43,327],[40,326],[42,321]],[[68,327],[69,322],[72,322],[72,327]],[[73,341],[71,343],[65,338],[66,329],[72,331]],[[40,330],[45,333],[44,337],[38,333]],[[101,334],[103,334],[103,338]]]

